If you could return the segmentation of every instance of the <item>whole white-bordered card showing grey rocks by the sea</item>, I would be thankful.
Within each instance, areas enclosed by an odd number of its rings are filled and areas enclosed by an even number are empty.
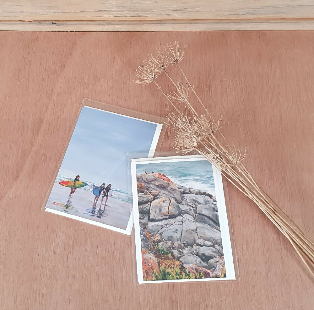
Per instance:
[[[220,172],[199,156],[131,171],[138,282],[235,280]]]

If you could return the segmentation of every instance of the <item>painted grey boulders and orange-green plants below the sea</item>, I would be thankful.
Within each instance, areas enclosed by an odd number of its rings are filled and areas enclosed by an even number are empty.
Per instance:
[[[136,179],[143,280],[225,278],[214,193],[158,171]]]

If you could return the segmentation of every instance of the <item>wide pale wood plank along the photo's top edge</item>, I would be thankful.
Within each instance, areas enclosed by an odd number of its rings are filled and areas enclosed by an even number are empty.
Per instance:
[[[314,18],[314,6],[309,0],[22,0],[2,1],[0,14],[2,20]]]

